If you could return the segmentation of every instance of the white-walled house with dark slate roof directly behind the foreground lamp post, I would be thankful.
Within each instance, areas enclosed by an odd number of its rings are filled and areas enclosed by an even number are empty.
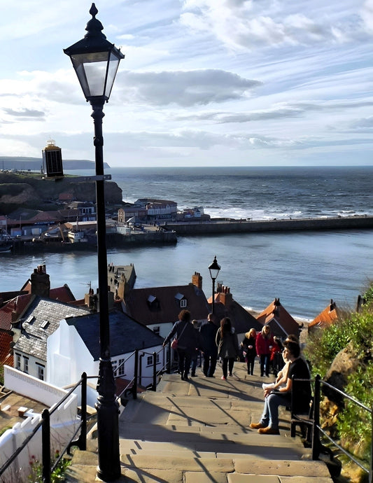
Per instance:
[[[139,367],[139,384],[148,386],[153,381],[153,352],[157,353],[157,369],[165,364],[163,338],[119,310],[109,313],[111,333],[110,353],[118,392],[134,377],[136,349],[143,361]],[[69,316],[59,321],[58,328],[46,344],[48,382],[58,387],[74,384],[82,372],[99,373],[99,313]],[[118,379],[118,380],[117,380]],[[87,402],[94,406],[97,400],[96,383],[90,381]]]

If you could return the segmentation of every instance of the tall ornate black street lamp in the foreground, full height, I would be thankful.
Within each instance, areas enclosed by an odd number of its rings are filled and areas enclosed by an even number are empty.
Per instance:
[[[115,398],[115,381],[110,358],[110,329],[108,321],[108,274],[106,257],[106,221],[102,118],[104,102],[108,102],[120,59],[125,56],[102,33],[104,27],[97,20],[97,8],[92,3],[92,19],[87,23],[84,38],[64,49],[76,71],[85,99],[92,106],[94,120],[94,148],[96,163],[97,203],[97,258],[99,279],[100,360],[97,382],[97,433],[99,465],[97,476],[106,482],[120,477],[119,407]]]

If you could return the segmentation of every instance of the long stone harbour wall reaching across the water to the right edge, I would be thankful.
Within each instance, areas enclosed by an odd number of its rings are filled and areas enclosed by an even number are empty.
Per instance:
[[[167,223],[166,228],[177,235],[216,235],[247,232],[298,230],[369,230],[373,216],[337,216],[330,218],[296,218],[286,220],[252,221],[212,218],[211,221]]]

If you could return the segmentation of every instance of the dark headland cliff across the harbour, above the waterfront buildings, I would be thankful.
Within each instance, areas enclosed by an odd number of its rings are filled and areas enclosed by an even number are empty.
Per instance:
[[[0,172],[0,214],[8,215],[19,207],[32,209],[59,209],[57,201],[61,193],[71,193],[74,200],[95,202],[94,181],[74,181],[73,176],[64,179],[41,179],[36,174],[15,174]],[[105,200],[108,204],[122,204],[122,190],[113,181],[105,183]]]

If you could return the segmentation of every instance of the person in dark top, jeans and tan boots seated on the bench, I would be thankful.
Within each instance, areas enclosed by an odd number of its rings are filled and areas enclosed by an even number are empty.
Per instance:
[[[265,388],[265,407],[259,423],[251,423],[250,428],[258,429],[260,434],[279,435],[279,406],[290,406],[294,379],[310,379],[309,368],[300,357],[300,346],[296,342],[284,342],[284,356],[290,360],[286,385],[276,390]],[[310,381],[297,382],[295,398],[300,405],[311,400]]]

